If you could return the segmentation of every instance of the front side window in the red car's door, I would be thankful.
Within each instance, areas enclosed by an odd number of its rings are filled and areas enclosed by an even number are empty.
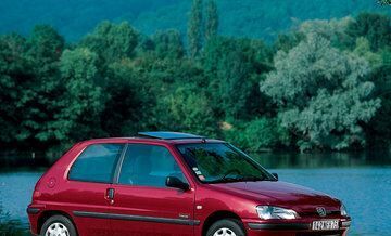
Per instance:
[[[119,173],[119,184],[165,187],[167,176],[187,182],[175,158],[163,146],[129,144]]]

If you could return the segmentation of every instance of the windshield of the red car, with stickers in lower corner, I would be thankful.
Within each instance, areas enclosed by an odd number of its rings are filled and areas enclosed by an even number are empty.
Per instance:
[[[203,183],[275,181],[254,160],[227,143],[181,144],[177,147]]]

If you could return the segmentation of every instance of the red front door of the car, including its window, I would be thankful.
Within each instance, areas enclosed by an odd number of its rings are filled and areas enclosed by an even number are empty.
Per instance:
[[[166,147],[127,145],[117,183],[113,185],[114,235],[193,235],[194,189],[166,187],[168,175],[187,182]]]

